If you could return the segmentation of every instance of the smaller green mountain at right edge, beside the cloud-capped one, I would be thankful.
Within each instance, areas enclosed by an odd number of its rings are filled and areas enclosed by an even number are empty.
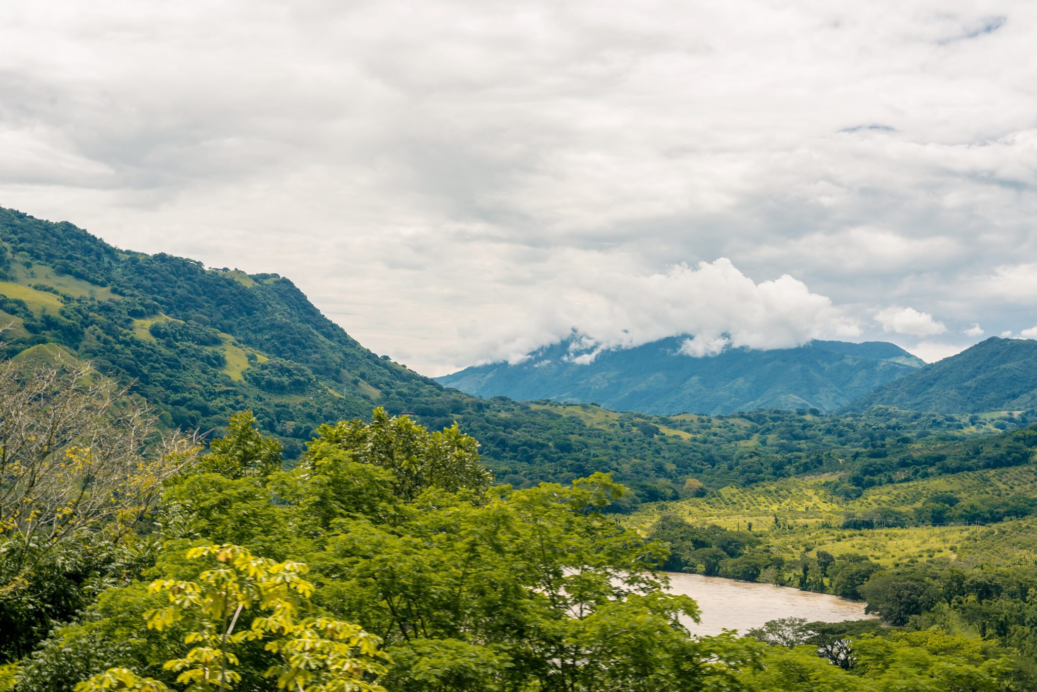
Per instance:
[[[941,413],[1032,410],[1037,408],[1037,341],[988,338],[875,389],[848,410],[875,405]]]

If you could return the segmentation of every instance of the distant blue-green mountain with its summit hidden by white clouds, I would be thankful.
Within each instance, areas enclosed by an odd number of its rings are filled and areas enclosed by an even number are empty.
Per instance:
[[[596,402],[611,409],[673,414],[726,414],[755,409],[833,411],[924,363],[886,342],[812,341],[798,349],[730,349],[693,358],[684,337],[604,351],[573,362],[569,339],[517,365],[469,367],[439,382],[480,396]]]

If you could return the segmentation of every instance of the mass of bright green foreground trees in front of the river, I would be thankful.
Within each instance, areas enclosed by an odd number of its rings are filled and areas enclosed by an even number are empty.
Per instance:
[[[74,621],[37,636],[3,684],[16,692],[748,692],[797,690],[809,679],[867,692],[894,682],[1030,689],[1011,652],[977,656],[940,630],[910,639],[851,625],[793,628],[828,637],[844,656],[839,665],[809,642],[690,637],[677,618],[694,617],[696,604],[666,593],[655,571],[666,549],[601,514],[624,492],[608,475],[487,489],[472,473],[474,442],[456,430],[373,418],[323,427],[285,471],[272,463],[278,443],[249,414],[234,416],[208,454],[217,459],[167,481],[141,536],[151,550],[112,574]]]

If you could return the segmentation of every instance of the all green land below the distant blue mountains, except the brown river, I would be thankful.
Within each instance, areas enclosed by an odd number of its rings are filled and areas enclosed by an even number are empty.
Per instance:
[[[0,691],[1037,689],[1026,412],[480,399],[279,276],[0,233]],[[690,637],[663,566],[884,622]]]

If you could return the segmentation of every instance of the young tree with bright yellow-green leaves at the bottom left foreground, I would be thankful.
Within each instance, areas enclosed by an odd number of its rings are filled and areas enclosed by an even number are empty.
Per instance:
[[[230,689],[241,683],[237,649],[258,642],[273,658],[263,676],[276,679],[278,689],[385,692],[373,682],[385,672],[387,658],[379,651],[376,638],[341,620],[300,618],[301,608],[313,593],[313,585],[302,577],[305,564],[274,562],[229,544],[193,548],[187,557],[209,558],[216,564],[196,581],[155,581],[150,589],[167,593],[169,605],[145,614],[148,628],[161,631],[180,626],[187,629],[185,643],[195,644],[163,666],[179,673],[176,683],[186,692]],[[265,614],[235,631],[246,609]],[[169,689],[160,681],[117,667],[77,685],[76,691],[112,688]]]

